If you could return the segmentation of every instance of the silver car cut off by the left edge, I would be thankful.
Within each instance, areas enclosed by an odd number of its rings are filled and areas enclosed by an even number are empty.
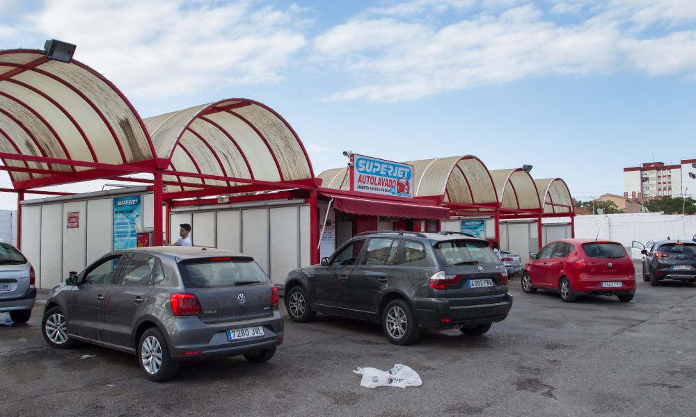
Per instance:
[[[26,323],[36,299],[34,268],[22,252],[0,241],[0,313],[9,312],[16,324]]]

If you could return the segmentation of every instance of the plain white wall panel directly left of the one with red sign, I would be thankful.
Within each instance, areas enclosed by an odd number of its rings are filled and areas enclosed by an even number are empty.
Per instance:
[[[53,288],[63,282],[63,204],[41,208],[40,288]]]

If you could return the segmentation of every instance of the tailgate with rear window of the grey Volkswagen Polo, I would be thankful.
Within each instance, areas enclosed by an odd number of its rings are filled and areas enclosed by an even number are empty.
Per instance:
[[[271,280],[248,256],[217,256],[179,262],[187,293],[200,303],[204,323],[272,316]]]

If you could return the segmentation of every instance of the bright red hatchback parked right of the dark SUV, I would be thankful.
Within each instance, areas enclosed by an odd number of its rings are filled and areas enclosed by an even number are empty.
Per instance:
[[[633,300],[635,268],[621,243],[606,240],[564,239],[544,246],[522,271],[522,290],[551,290],[564,302],[576,295],[616,295]]]

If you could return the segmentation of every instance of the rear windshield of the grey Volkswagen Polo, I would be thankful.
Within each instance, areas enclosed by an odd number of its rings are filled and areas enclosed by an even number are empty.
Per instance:
[[[270,282],[253,259],[196,259],[179,263],[187,288],[218,288]]]

